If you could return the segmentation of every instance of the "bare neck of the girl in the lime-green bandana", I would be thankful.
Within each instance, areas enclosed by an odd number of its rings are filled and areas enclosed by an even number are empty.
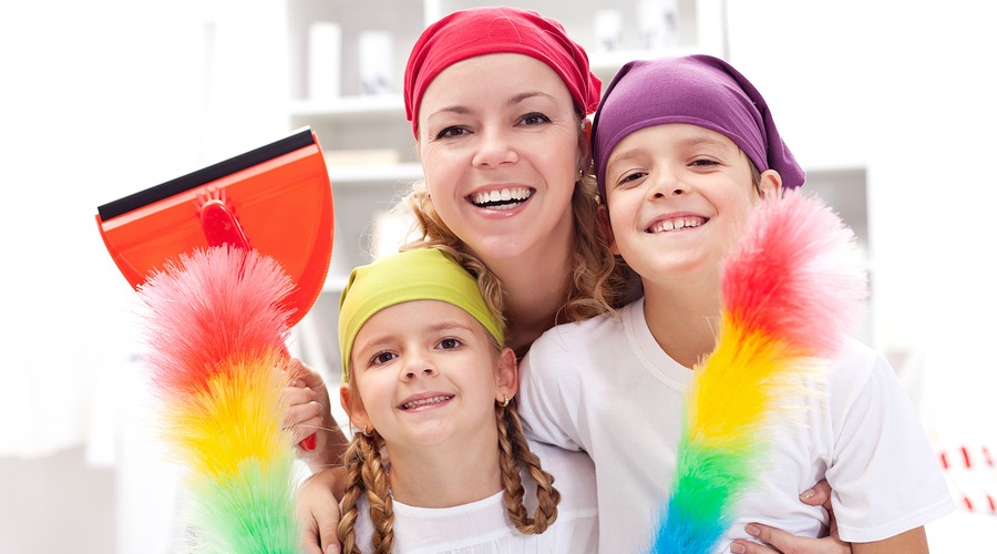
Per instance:
[[[497,432],[497,431],[496,431]],[[388,474],[395,500],[410,506],[452,507],[486,499],[502,489],[498,439],[418,449],[388,447]]]

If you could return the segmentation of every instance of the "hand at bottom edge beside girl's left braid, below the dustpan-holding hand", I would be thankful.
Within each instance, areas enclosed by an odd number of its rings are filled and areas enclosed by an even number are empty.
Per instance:
[[[298,490],[295,512],[300,523],[300,543],[308,554],[339,553],[339,501],[345,470],[330,468],[308,478]],[[325,548],[325,550],[322,550]]]

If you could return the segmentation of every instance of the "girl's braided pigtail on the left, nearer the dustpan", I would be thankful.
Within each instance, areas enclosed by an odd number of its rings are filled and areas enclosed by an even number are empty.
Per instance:
[[[371,545],[377,554],[389,554],[394,547],[394,511],[391,503],[388,472],[381,462],[381,437],[377,431],[357,433],[345,455],[346,492],[342,495],[342,516],[339,521],[339,542],[342,553],[359,553],[353,527],[357,523],[357,502],[367,494],[370,520],[373,524]]]

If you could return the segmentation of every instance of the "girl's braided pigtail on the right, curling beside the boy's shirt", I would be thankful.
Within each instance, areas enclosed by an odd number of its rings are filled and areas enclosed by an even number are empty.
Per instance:
[[[495,419],[498,424],[498,460],[502,470],[503,501],[508,519],[524,534],[539,534],[557,520],[557,504],[561,493],[554,488],[554,476],[541,468],[539,459],[530,451],[523,434],[523,423],[516,410],[515,399],[508,406],[495,407]],[[520,478],[520,466],[530,472],[536,482],[537,507],[533,517],[526,512],[523,503],[525,494]]]

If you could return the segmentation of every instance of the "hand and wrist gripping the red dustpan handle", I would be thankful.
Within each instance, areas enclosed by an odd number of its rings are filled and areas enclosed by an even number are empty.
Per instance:
[[[284,428],[291,429],[295,444],[315,433],[315,449],[298,449],[298,458],[308,463],[312,472],[340,465],[348,442],[342,430],[332,419],[329,390],[322,376],[296,358],[288,365],[294,382],[281,391],[288,410]]]

